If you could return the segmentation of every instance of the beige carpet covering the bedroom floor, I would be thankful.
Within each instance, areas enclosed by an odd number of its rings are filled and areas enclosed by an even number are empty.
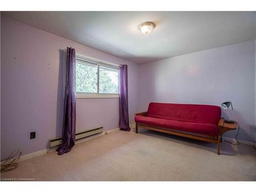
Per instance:
[[[2,178],[36,181],[255,181],[253,146],[216,144],[139,129],[116,131],[20,162]]]

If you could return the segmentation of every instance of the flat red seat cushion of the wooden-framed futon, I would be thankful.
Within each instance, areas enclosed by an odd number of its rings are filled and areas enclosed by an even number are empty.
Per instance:
[[[197,133],[209,136],[217,136],[219,133],[218,126],[214,124],[184,122],[140,115],[135,116],[135,122],[163,127],[166,129],[179,130],[183,132]]]

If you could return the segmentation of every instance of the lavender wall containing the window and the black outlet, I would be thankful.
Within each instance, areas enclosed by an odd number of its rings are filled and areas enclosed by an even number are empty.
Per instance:
[[[23,155],[43,150],[61,136],[63,49],[129,69],[129,114],[138,105],[138,65],[74,41],[1,17],[1,159],[19,148]],[[118,98],[77,99],[77,131],[118,127]],[[29,134],[36,131],[36,138]]]

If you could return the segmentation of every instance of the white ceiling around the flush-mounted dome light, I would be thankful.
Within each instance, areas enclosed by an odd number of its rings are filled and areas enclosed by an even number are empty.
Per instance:
[[[136,63],[255,39],[256,12],[2,12]],[[143,34],[138,26],[153,22]]]

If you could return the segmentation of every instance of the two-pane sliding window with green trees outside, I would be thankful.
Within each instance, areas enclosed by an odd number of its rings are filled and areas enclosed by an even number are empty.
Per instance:
[[[76,93],[78,98],[119,97],[119,68],[101,61],[76,56]]]

